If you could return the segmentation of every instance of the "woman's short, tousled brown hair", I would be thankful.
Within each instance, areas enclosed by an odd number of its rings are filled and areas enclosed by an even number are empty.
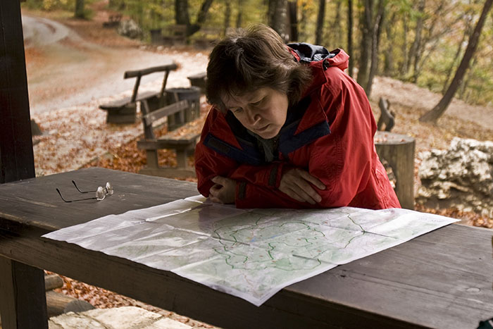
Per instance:
[[[287,94],[289,104],[301,98],[311,69],[297,62],[277,32],[262,24],[221,40],[209,55],[206,97],[225,113],[223,97],[270,87]]]

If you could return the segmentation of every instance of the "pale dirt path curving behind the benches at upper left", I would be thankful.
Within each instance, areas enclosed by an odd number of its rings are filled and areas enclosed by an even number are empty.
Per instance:
[[[135,83],[135,79],[123,79],[125,70],[172,61],[167,54],[136,46],[114,48],[87,42],[71,28],[46,18],[23,15],[23,30],[31,113],[120,94]],[[161,80],[162,75],[149,75],[142,84]]]

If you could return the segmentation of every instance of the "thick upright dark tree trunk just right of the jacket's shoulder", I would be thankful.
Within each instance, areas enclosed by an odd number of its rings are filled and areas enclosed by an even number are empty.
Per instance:
[[[361,50],[358,67],[358,84],[366,90],[368,84],[369,68],[368,62],[371,56],[372,29],[371,22],[373,17],[373,0],[365,0],[363,17],[361,18]]]

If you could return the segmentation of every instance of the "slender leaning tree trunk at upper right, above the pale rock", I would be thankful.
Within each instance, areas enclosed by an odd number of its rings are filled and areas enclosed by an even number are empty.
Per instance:
[[[440,116],[447,110],[449,104],[456,93],[458,86],[461,85],[462,79],[466,70],[468,69],[471,58],[478,47],[478,42],[481,35],[481,30],[483,25],[485,25],[486,16],[489,10],[492,8],[493,0],[486,0],[485,6],[482,8],[482,13],[476,27],[474,28],[473,34],[469,38],[468,46],[466,48],[466,52],[462,58],[461,63],[459,64],[454,79],[450,83],[449,89],[445,92],[444,97],[438,102],[438,104],[432,108],[431,111],[425,113],[421,118],[419,118],[422,122],[436,122]]]

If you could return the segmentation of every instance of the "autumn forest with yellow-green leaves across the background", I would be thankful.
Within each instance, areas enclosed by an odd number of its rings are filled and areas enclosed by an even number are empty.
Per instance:
[[[65,9],[91,19],[97,0],[27,0],[46,11]],[[349,74],[367,94],[373,76],[385,75],[445,94],[461,64],[485,5],[478,0],[108,0],[109,8],[149,31],[187,25],[189,40],[206,31],[266,23],[286,42],[342,48],[351,56]],[[469,104],[493,103],[493,22],[486,11],[478,45],[454,96]],[[354,66],[354,67],[353,67]],[[358,70],[359,68],[359,70]]]

